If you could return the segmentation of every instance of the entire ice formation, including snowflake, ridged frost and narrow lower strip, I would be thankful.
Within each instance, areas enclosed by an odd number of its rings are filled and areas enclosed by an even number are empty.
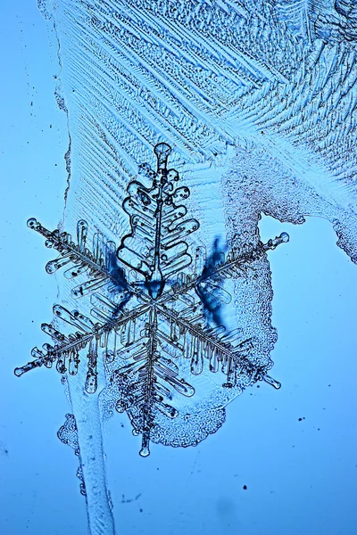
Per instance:
[[[150,441],[216,432],[256,381],[279,387],[266,252],[288,236],[263,244],[261,214],[328,218],[357,262],[357,6],[38,4],[59,41],[69,176],[60,229],[29,226],[64,277],[42,325],[53,344],[15,373],[67,377],[59,436],[80,459],[91,533],[110,534],[105,419],[127,412],[145,457]]]

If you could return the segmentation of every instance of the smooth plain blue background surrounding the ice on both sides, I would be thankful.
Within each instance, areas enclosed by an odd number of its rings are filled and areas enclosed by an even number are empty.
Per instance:
[[[26,226],[29,217],[49,228],[62,218],[68,134],[54,100],[57,48],[35,1],[3,3],[0,13],[0,533],[84,535],[78,459],[56,437],[70,410],[60,376],[13,375],[46,342],[39,325],[57,294],[44,270],[51,251]],[[156,446],[147,459],[125,416],[113,419],[104,440],[118,534],[356,532],[357,267],[326,220],[263,218],[263,240],[282,230],[290,243],[270,252],[271,374],[281,390],[245,391],[199,447]]]

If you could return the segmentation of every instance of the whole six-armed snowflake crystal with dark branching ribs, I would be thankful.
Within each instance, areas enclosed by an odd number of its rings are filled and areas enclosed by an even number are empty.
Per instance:
[[[82,278],[71,296],[92,308],[90,318],[79,310],[54,305],[54,325],[41,325],[53,343],[44,344],[42,350],[34,348],[34,359],[14,371],[21,376],[55,363],[60,374],[75,375],[87,351],[84,389],[94,394],[102,357],[109,378],[104,403],[128,413],[134,434],[142,435],[142,457],[149,455],[150,440],[168,443],[160,434],[160,422],[163,419],[166,426],[174,427],[181,399],[195,396],[193,383],[201,374],[215,376],[220,390],[233,391],[235,396],[257,381],[280,387],[267,374],[272,362],[254,359],[252,338],[245,338],[239,327],[228,330],[220,323],[220,309],[231,300],[225,280],[245,276],[254,260],[288,241],[282,233],[254,248],[247,245],[245,251],[226,253],[215,243],[211,255],[201,245],[192,253],[188,238],[199,223],[187,218],[183,202],[189,189],[179,185],[179,173],[167,167],[170,145],[157,144],[154,152],[156,171],[143,164],[141,181],[128,185],[122,208],[129,215],[131,231],[121,238],[118,248],[104,235],[95,234],[93,251],[89,251],[84,220],[78,222],[77,243],[73,243],[66,232],[47,230],[29,219],[28,226],[46,238],[46,246],[60,252],[47,263],[46,272],[71,265],[64,276]],[[71,325],[71,333],[57,330],[58,323]],[[189,431],[189,415],[181,417]],[[203,434],[219,426],[220,422],[213,421]],[[171,443],[186,446],[193,442],[181,437]]]

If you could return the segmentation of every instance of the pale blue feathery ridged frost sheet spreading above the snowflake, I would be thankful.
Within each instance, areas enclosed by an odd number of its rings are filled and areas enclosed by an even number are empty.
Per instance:
[[[69,211],[96,211],[104,199],[118,235],[116,193],[154,144],[170,140],[176,167],[231,169],[235,195],[242,180],[259,193],[258,213],[328,218],[356,260],[353,0],[40,5],[66,58]],[[245,168],[255,169],[254,184]],[[96,223],[105,227],[101,213]]]

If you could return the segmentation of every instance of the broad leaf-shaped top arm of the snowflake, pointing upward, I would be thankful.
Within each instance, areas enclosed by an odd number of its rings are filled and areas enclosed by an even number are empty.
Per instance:
[[[191,264],[186,240],[199,223],[186,219],[187,209],[179,204],[190,192],[186,186],[177,187],[179,173],[167,169],[170,145],[157,144],[154,152],[156,172],[143,164],[142,182],[128,185],[123,209],[129,215],[131,232],[122,238],[117,257],[144,279],[150,298],[157,300],[170,277]]]

